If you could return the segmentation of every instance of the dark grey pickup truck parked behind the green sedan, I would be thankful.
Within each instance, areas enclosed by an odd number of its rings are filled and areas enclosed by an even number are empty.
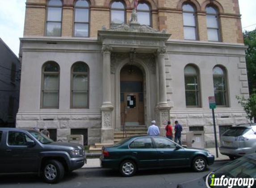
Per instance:
[[[52,184],[84,163],[80,144],[54,142],[35,130],[0,128],[0,174],[35,172]]]

